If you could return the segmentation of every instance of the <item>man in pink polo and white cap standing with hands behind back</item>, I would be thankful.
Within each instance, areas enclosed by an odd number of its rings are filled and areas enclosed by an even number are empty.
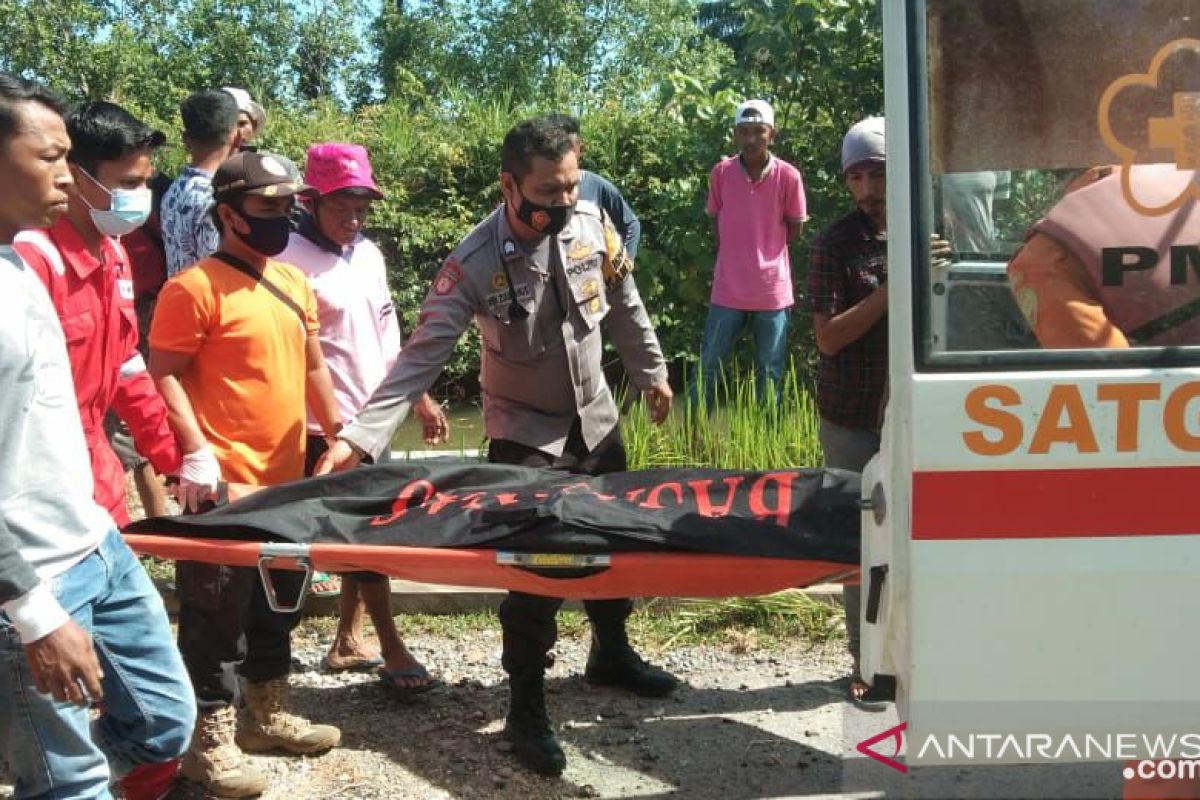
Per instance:
[[[770,154],[775,113],[762,100],[738,106],[733,139],[739,154],[713,167],[708,213],[716,225],[713,295],[700,348],[694,402],[712,408],[733,344],[751,324],[758,397],[775,396],[787,355],[792,305],[788,243],[808,217],[800,170]]]

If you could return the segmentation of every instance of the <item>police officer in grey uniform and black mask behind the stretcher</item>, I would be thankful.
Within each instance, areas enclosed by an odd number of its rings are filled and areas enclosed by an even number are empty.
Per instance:
[[[625,469],[617,407],[601,369],[601,321],[634,385],[646,392],[652,420],[670,413],[667,369],[632,260],[604,212],[577,201],[571,137],[554,120],[521,122],[504,137],[500,169],[504,204],[446,259],[400,359],[338,434],[318,475],[388,447],[472,319],[484,339],[480,383],[493,463],[588,474]],[[500,606],[511,691],[505,733],[517,758],[544,775],[559,775],[566,764],[544,685],[562,602],[512,591]],[[672,675],[630,648],[629,600],[589,601],[586,608],[593,625],[589,682],[647,697],[676,687]]]

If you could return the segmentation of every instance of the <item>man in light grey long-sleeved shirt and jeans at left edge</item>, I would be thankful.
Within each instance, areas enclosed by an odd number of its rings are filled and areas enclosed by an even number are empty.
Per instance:
[[[61,114],[0,74],[0,758],[20,796],[109,796],[114,771],[160,796],[196,703],[162,599],[92,500],[62,329],[12,248],[74,191]]]

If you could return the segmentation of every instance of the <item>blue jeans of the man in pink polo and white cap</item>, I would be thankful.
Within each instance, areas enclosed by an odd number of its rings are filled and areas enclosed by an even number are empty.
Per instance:
[[[746,318],[754,332],[754,377],[758,399],[766,401],[774,396],[779,399],[779,390],[784,380],[784,363],[787,359],[787,324],[791,308],[779,311],[738,311],[712,303],[708,306],[708,319],[704,321],[704,342],[700,345],[700,380],[692,384],[691,402],[701,399],[703,389],[704,407],[712,409],[716,401],[718,387],[722,386],[724,372],[733,351],[733,344]]]

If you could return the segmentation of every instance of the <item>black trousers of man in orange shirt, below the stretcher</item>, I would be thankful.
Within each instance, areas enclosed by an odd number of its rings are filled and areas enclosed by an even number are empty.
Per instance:
[[[302,572],[272,570],[271,576],[283,603],[306,589]],[[300,612],[271,610],[257,569],[179,561],[175,593],[179,651],[202,711],[236,702],[238,674],[251,681],[288,674]]]

